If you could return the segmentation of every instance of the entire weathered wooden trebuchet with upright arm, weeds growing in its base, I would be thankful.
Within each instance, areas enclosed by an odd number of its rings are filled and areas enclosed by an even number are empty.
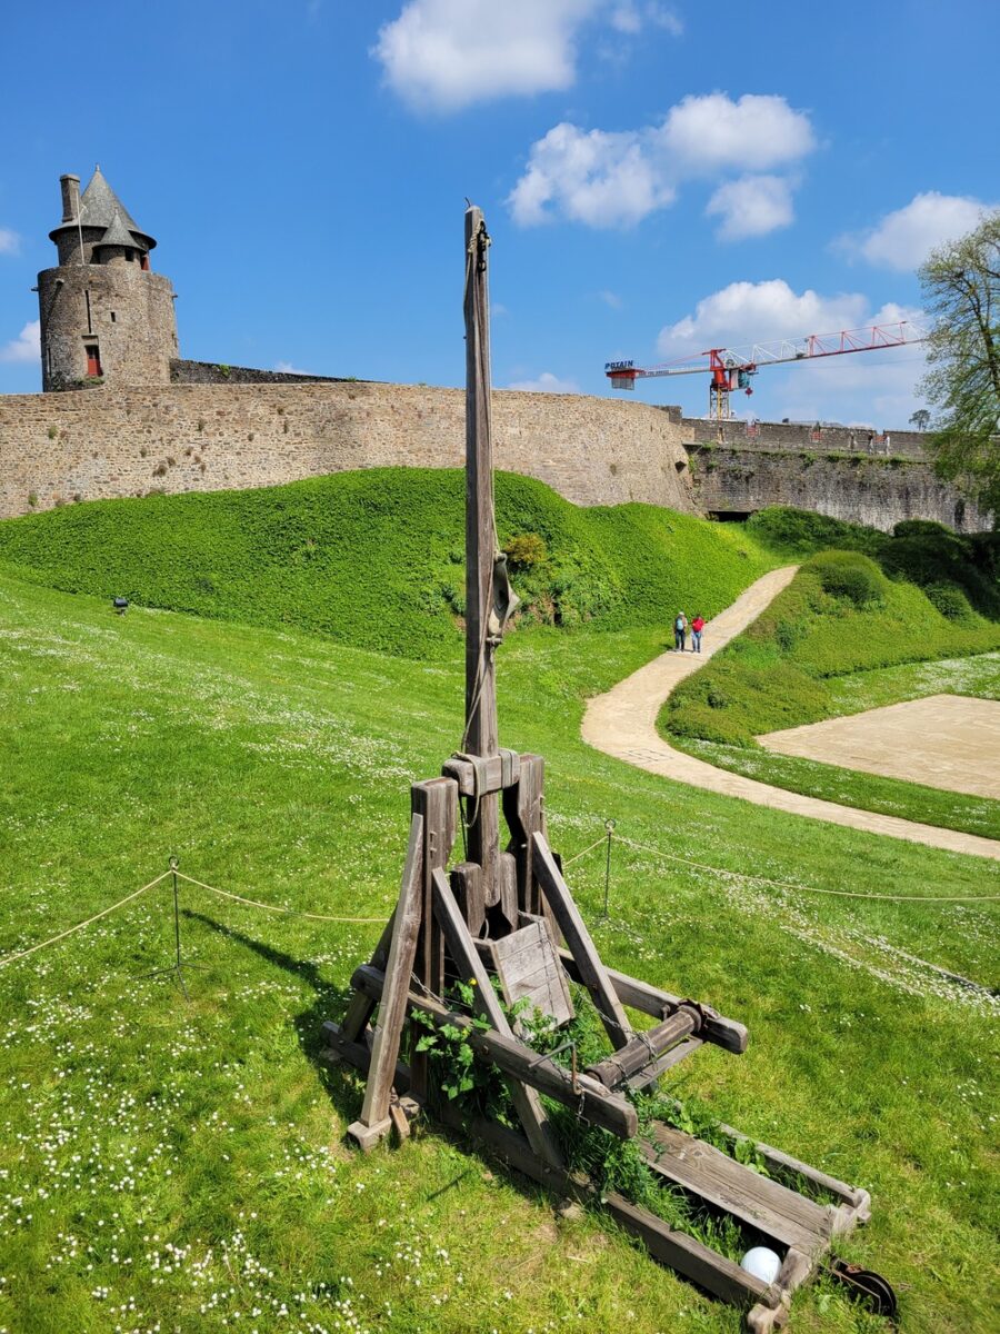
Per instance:
[[[605,967],[548,843],[544,762],[500,746],[496,652],[519,599],[493,511],[488,245],[483,215],[471,205],[465,727],[441,776],[411,787],[396,910],[351,979],[345,1014],[324,1025],[329,1059],[365,1077],[348,1134],[371,1150],[393,1127],[405,1139],[412,1117],[427,1110],[561,1198],[599,1202],[655,1259],[751,1307],[749,1329],[768,1334],[784,1325],[791,1294],[833,1238],[868,1217],[868,1194],[763,1145],[740,1151],[828,1191],[835,1203],[820,1205],[651,1114],[663,1110],[657,1102],[643,1105],[640,1134],[636,1095],[704,1043],[743,1053],[747,1030]],[[449,866],[459,820],[464,859]],[[584,992],[576,1003],[571,983]],[[627,1006],[652,1025],[636,1029]],[[584,1041],[591,1030],[601,1034],[599,1045]],[[632,1198],[615,1182],[628,1182]],[[711,1235],[681,1226],[688,1210],[717,1219]],[[769,1281],[727,1253],[744,1229],[775,1249]]]

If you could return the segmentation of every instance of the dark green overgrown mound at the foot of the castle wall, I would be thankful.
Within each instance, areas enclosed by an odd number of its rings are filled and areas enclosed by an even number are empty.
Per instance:
[[[539,534],[515,576],[536,614],[604,628],[712,615],[775,564],[741,531],[653,506],[580,510],[529,478],[496,479],[500,542]],[[456,651],[464,475],[373,468],[257,491],[104,500],[0,523],[0,560],[67,592],[125,596],[408,658]]]

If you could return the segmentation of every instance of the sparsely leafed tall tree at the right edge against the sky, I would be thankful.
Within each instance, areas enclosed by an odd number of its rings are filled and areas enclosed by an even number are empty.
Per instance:
[[[1000,211],[933,251],[920,281],[935,317],[921,388],[939,414],[937,470],[1000,515]]]

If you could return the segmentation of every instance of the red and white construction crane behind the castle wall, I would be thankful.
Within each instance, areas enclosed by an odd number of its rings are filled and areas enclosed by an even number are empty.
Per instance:
[[[752,394],[751,379],[761,366],[903,347],[907,343],[923,343],[928,332],[915,320],[899,320],[895,324],[872,324],[861,329],[840,329],[839,334],[807,334],[799,339],[751,343],[748,347],[713,347],[695,356],[645,368],[636,366],[635,362],[605,362],[604,372],[613,390],[635,390],[636,380],[661,375],[711,375],[708,415],[713,420],[725,422],[733,415],[729,395],[733,390]]]

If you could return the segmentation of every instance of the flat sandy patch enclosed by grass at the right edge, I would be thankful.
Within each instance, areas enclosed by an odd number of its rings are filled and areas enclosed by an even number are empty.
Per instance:
[[[757,740],[781,755],[1000,799],[1000,703],[992,699],[929,695]]]

